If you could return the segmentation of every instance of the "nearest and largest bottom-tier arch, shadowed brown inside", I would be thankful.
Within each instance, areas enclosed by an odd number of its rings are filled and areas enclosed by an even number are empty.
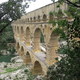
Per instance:
[[[32,73],[37,75],[43,74],[42,66],[39,61],[35,61]]]

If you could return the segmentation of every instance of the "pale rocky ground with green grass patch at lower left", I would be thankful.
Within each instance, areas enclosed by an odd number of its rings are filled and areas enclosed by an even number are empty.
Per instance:
[[[24,65],[20,56],[11,59],[10,63],[0,63],[0,80],[43,80],[34,77],[29,71],[30,65]]]

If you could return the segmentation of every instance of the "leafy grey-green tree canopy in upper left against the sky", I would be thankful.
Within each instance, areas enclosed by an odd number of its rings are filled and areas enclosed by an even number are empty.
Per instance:
[[[0,33],[3,32],[5,27],[13,20],[25,14],[25,9],[29,7],[28,1],[34,0],[9,0],[8,2],[0,4]]]

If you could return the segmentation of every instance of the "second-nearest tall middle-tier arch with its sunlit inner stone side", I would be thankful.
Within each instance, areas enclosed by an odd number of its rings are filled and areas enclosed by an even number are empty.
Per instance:
[[[34,51],[40,51],[40,38],[41,38],[41,29],[37,28],[34,32]]]

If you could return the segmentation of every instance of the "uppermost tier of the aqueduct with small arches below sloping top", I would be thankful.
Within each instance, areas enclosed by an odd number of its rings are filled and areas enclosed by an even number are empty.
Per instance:
[[[54,16],[50,14],[51,12],[58,12],[59,9],[61,9],[64,13],[65,10],[67,10],[67,4],[63,3],[60,8],[57,6],[59,5],[58,2],[52,3],[49,5],[46,5],[44,7],[41,7],[39,9],[36,9],[34,11],[28,12],[26,15],[22,16],[21,19],[18,19],[14,23],[18,22],[41,22],[41,21],[48,21],[52,20]]]

